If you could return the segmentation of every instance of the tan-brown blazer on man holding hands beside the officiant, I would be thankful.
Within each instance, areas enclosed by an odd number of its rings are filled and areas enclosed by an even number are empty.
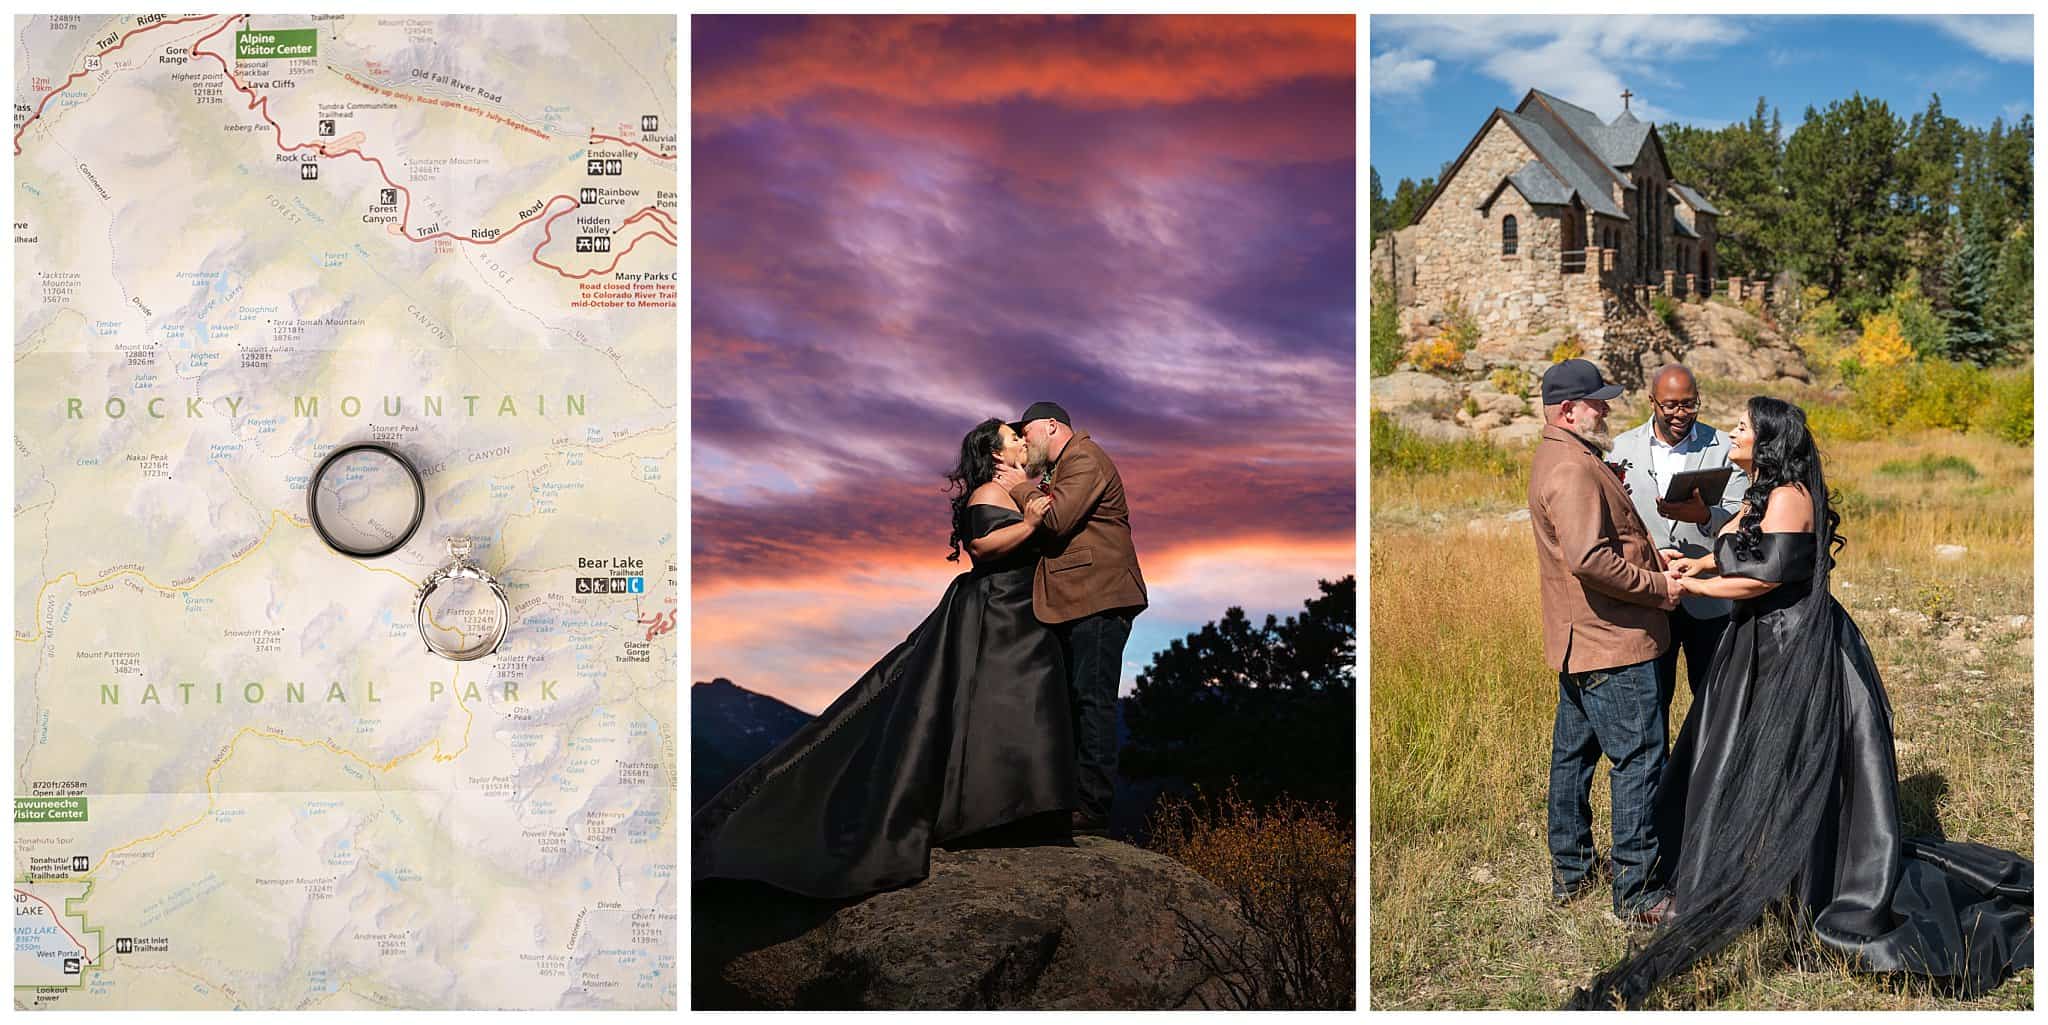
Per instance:
[[[1663,654],[1671,584],[1651,533],[1599,451],[1556,424],[1544,424],[1530,465],[1530,527],[1550,668],[1589,672]]]

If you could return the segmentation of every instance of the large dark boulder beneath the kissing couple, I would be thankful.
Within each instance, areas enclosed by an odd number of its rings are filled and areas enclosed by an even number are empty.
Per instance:
[[[692,890],[692,1009],[1229,1007],[1190,929],[1247,929],[1186,865],[1096,836],[934,851],[918,886],[852,904]]]

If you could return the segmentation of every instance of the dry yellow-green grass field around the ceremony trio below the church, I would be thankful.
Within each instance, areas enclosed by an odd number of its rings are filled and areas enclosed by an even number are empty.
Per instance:
[[[1794,394],[1812,402],[1812,396]],[[1708,394],[1702,420],[1735,422]],[[1640,422],[1618,408],[1616,426]],[[1821,439],[1849,545],[1835,597],[1890,693],[1909,834],[2034,853],[2032,451],[1923,433]],[[1407,445],[1395,457],[1391,449]],[[1544,789],[1556,674],[1542,662],[1528,453],[1374,435],[1370,535],[1370,1007],[1544,1009],[1622,955],[1608,890],[1548,902]],[[1935,545],[1964,545],[1942,558]],[[1679,672],[1683,679],[1683,670]],[[1673,736],[1690,693],[1679,685]],[[1608,849],[1606,767],[1593,836]],[[2034,972],[1978,1000],[1798,970],[1757,929],[1653,1007],[2030,1009]]]

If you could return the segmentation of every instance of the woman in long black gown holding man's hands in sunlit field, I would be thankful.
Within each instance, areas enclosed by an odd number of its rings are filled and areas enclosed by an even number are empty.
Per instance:
[[[1569,1007],[1640,1007],[1772,908],[1853,970],[1980,994],[2034,963],[2034,863],[1901,836],[1892,709],[1827,588],[1841,515],[1806,414],[1753,398],[1729,441],[1743,512],[1671,564],[1688,592],[1735,599],[1657,795],[1675,918]]]

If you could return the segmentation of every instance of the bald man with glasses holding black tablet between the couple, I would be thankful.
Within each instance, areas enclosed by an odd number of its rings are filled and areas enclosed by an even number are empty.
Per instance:
[[[1651,418],[1616,435],[1610,459],[1626,467],[1628,498],[1665,558],[1712,551],[1714,535],[1735,519],[1749,490],[1749,478],[1729,463],[1729,435],[1700,422],[1700,385],[1677,363],[1651,375]],[[1731,611],[1726,599],[1688,594],[1671,613],[1671,648],[1657,658],[1665,707],[1677,691],[1679,652],[1688,689],[1700,699]]]

